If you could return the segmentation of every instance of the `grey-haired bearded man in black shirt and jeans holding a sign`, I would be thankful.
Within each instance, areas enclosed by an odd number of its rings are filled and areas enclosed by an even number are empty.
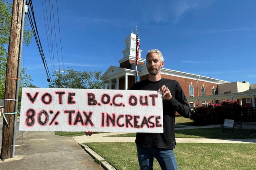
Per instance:
[[[158,49],[148,51],[146,66],[149,72],[148,79],[134,84],[131,90],[158,90],[158,92],[162,92],[164,133],[137,133],[135,142],[140,169],[152,169],[155,157],[162,170],[176,170],[178,167],[173,151],[176,147],[175,114],[177,111],[180,115],[189,118],[190,107],[180,84],[176,80],[161,77],[164,58]]]

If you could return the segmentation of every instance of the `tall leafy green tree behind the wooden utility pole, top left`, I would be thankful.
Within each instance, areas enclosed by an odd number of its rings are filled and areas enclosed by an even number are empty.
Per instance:
[[[12,21],[12,4],[6,0],[0,0],[0,98],[4,98],[7,47],[10,37],[10,28]],[[24,25],[27,25],[25,21]],[[32,32],[24,29],[23,42],[28,45]]]

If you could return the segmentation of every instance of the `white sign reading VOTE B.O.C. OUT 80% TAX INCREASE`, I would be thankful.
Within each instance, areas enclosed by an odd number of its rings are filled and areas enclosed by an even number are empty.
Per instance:
[[[20,131],[163,133],[162,94],[144,90],[22,88]]]

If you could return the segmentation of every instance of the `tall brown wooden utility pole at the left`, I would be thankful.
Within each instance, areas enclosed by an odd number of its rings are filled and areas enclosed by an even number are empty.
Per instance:
[[[8,46],[8,57],[6,65],[4,112],[6,120],[3,120],[2,150],[0,158],[5,160],[12,157],[12,137],[14,125],[15,92],[18,72],[18,56],[20,49],[20,31],[22,21],[22,7],[24,0],[13,0],[12,25]],[[8,124],[7,124],[8,123]]]

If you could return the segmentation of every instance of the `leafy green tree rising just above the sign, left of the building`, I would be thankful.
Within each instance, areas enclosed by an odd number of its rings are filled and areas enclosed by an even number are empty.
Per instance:
[[[73,68],[64,70],[63,74],[54,73],[53,86],[50,88],[86,88],[104,89],[106,79],[101,78],[101,71],[76,71]]]

